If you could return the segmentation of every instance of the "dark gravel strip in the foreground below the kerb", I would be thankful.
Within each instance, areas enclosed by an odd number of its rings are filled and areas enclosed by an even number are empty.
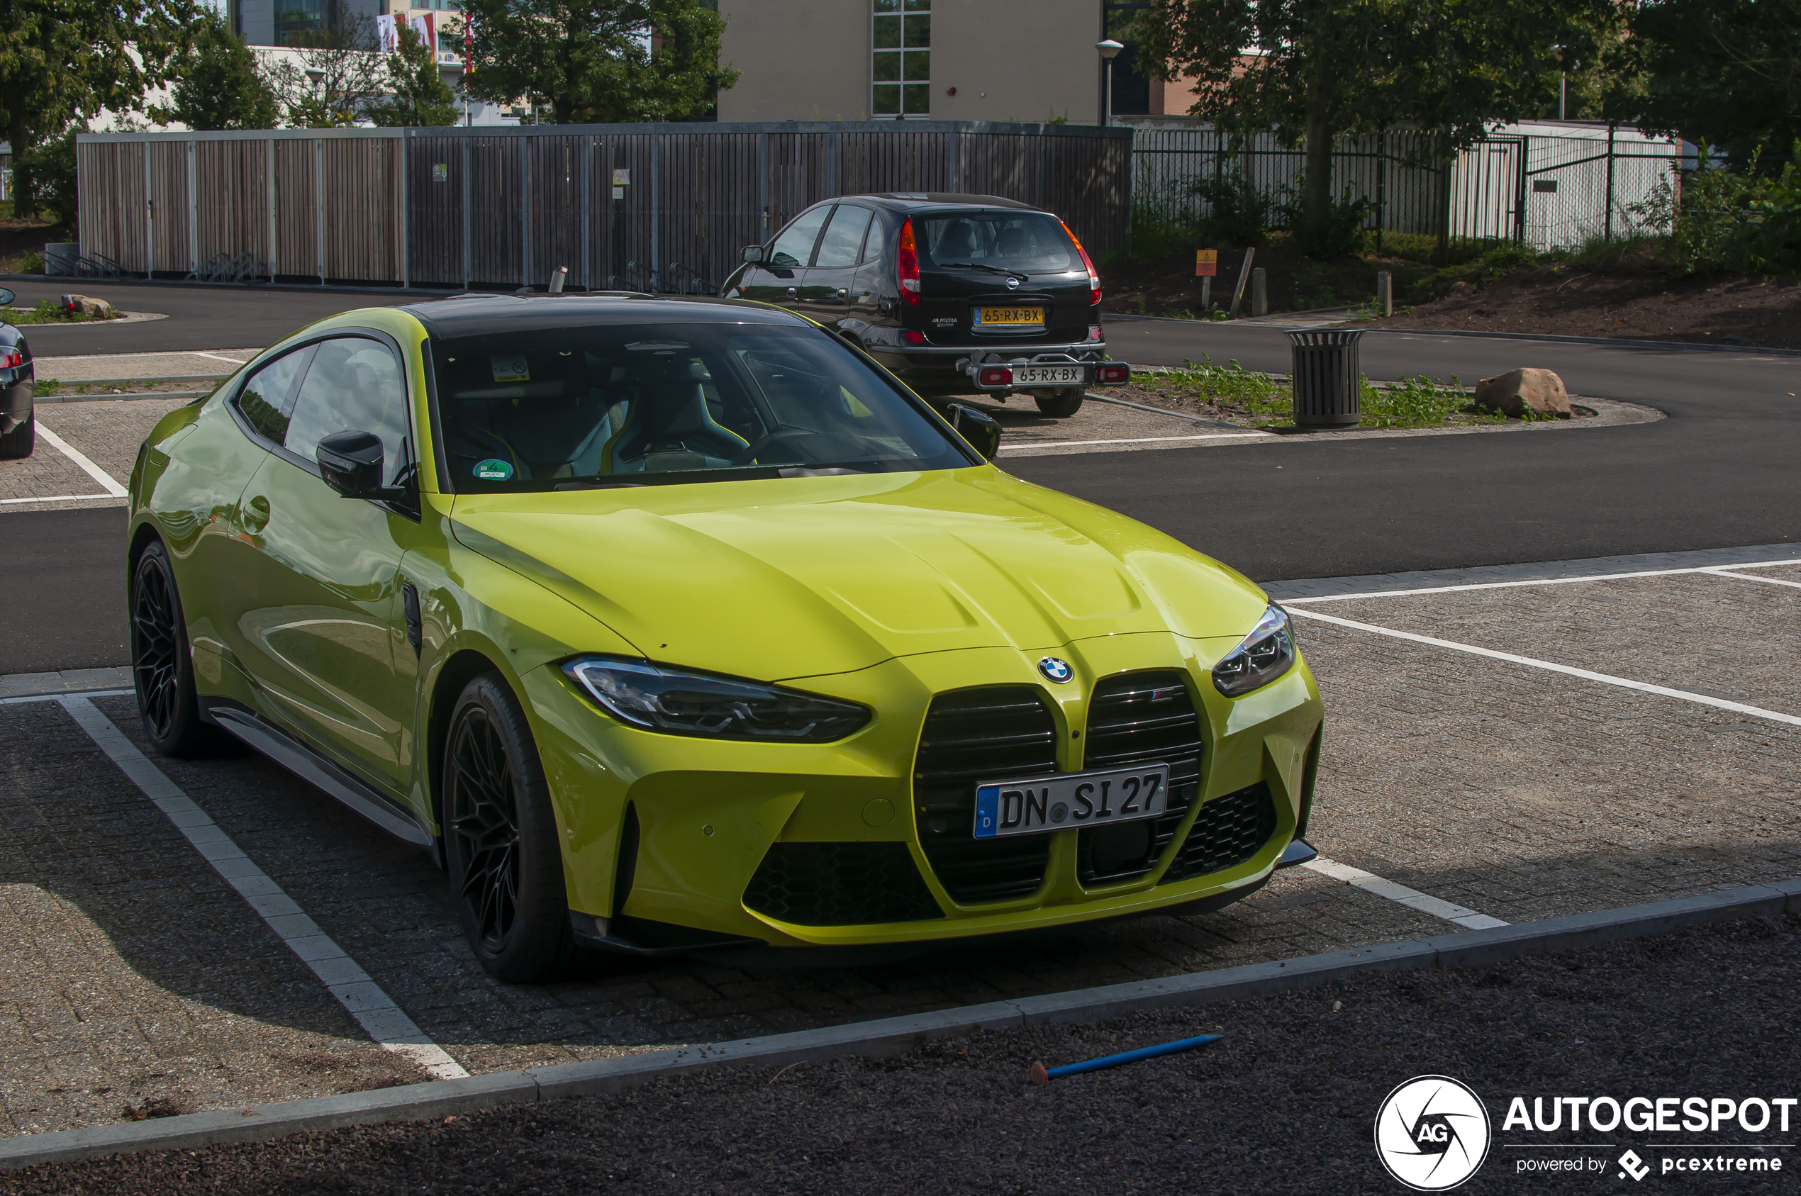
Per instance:
[[[1781,1173],[1661,1174],[1653,1142],[1729,1153],[1720,1135],[1502,1131],[1515,1095],[1790,1095],[1801,922],[1761,919],[1518,960],[1360,976],[1331,989],[1000,1030],[899,1059],[746,1068],[616,1097],[429,1124],[146,1155],[0,1176],[32,1192],[1399,1192],[1371,1146],[1398,1083],[1444,1074],[1484,1097],[1486,1165],[1461,1191],[1617,1183],[1630,1146],[1661,1191],[1796,1191]],[[1219,1032],[1153,1063],[1027,1083],[1052,1065]],[[1792,1142],[1794,1133],[1761,1135]],[[1587,1174],[1516,1174],[1522,1138],[1590,1142]],[[1738,1151],[1733,1156],[1743,1155]],[[1650,1187],[1650,1185],[1648,1185]]]

